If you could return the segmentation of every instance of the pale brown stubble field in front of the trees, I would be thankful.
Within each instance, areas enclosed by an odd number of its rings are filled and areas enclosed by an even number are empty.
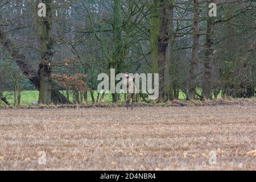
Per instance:
[[[256,169],[255,104],[0,110],[0,133],[1,170]]]

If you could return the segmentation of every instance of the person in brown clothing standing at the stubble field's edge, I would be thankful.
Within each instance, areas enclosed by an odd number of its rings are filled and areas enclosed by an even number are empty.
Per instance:
[[[135,77],[130,77],[129,73],[125,73],[125,85],[127,88],[127,100],[126,100],[126,109],[129,109],[130,107],[130,101],[131,102],[131,110],[134,110],[135,108],[135,102],[136,102],[136,92],[135,92]]]

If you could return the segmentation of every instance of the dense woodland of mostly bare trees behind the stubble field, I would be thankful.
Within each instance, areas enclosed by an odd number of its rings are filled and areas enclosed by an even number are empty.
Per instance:
[[[100,102],[97,76],[110,68],[159,73],[159,102],[254,97],[255,17],[253,0],[1,0],[0,97],[13,91],[19,105],[22,90],[39,90],[41,104]]]

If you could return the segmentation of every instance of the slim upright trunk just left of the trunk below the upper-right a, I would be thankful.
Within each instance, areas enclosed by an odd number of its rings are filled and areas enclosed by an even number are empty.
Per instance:
[[[193,0],[194,2],[194,22],[193,22],[193,46],[191,55],[191,69],[189,72],[188,82],[188,98],[194,100],[196,98],[196,75],[197,75],[197,63],[198,63],[198,51],[199,51],[199,1]]]

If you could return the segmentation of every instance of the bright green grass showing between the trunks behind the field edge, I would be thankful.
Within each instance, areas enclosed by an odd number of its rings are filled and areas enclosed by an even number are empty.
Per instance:
[[[66,94],[65,91],[60,91],[64,95]],[[13,92],[4,92],[4,96],[6,96],[7,100],[11,103],[14,104],[14,96]],[[97,98],[98,93],[95,91],[94,92],[94,98]],[[20,105],[32,105],[32,102],[37,102],[39,97],[39,92],[35,90],[27,90],[27,91],[22,91],[22,96],[21,96],[21,103]],[[219,94],[218,98],[221,98],[221,94]],[[69,99],[72,101],[73,97],[72,94],[70,94]],[[185,94],[180,92],[179,94],[179,100],[184,100],[185,99]],[[121,101],[119,102],[124,102],[125,101],[125,94],[121,94]],[[112,95],[110,93],[106,94],[104,97],[104,102],[105,103],[112,103]],[[88,92],[88,104],[92,103],[92,97],[90,96],[90,93]],[[85,104],[85,103],[83,103]]]

